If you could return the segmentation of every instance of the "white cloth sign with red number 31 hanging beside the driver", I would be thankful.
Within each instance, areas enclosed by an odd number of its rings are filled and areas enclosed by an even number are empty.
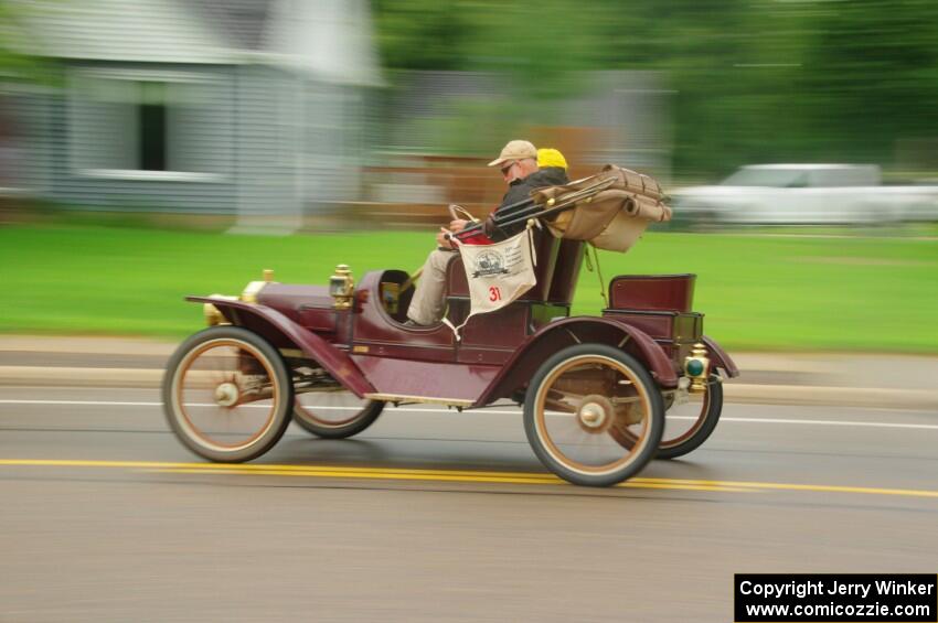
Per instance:
[[[537,283],[531,236],[527,228],[491,245],[463,245],[457,240],[472,303],[466,322],[477,313],[502,309]],[[466,322],[459,326],[447,324],[459,337],[459,330]]]

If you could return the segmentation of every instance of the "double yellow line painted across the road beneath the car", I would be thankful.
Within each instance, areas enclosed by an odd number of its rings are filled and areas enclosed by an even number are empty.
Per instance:
[[[565,481],[535,472],[489,472],[469,470],[426,470],[409,468],[355,468],[344,465],[284,465],[258,463],[184,463],[163,461],[94,461],[68,459],[0,459],[0,466],[32,468],[122,468],[166,473],[199,474],[231,473],[277,476],[345,477],[374,480],[412,480],[479,482],[508,484],[564,484]],[[823,484],[793,484],[771,482],[712,481],[686,479],[635,477],[620,484],[628,488],[659,488],[683,491],[717,491],[752,493],[759,491],[804,491],[814,493],[853,493],[864,495],[900,495],[938,498],[938,491],[910,488],[881,488]]]

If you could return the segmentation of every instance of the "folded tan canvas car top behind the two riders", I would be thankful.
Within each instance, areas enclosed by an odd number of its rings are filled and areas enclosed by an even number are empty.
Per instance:
[[[595,192],[590,192],[595,189]],[[629,169],[607,164],[597,175],[532,193],[534,201],[548,206],[573,193],[580,196],[572,210],[545,218],[558,238],[587,240],[600,249],[627,251],[649,223],[671,219],[671,208],[662,202],[655,180]]]

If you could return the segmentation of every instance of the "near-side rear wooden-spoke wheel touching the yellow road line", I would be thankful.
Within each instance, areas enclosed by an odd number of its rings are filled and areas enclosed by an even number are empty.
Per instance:
[[[664,428],[661,391],[644,366],[605,344],[579,344],[548,358],[531,379],[524,430],[558,476],[608,486],[637,474]],[[628,434],[633,442],[620,442]]]

